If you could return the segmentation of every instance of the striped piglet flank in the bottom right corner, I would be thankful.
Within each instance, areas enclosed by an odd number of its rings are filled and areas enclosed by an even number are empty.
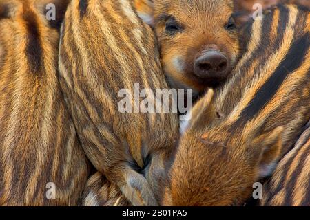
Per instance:
[[[262,190],[260,206],[310,206],[310,122]]]

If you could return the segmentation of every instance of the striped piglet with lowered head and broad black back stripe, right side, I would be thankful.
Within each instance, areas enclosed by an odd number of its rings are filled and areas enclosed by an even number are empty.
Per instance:
[[[291,149],[310,118],[309,21],[309,10],[279,5],[247,25],[231,78],[193,109],[165,205],[240,205]]]

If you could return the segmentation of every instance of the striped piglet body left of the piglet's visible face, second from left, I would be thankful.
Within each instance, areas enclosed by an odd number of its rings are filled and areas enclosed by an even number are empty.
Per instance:
[[[87,157],[133,205],[157,205],[178,136],[176,113],[120,113],[120,89],[167,89],[154,33],[133,1],[73,0],[65,14],[60,81]]]

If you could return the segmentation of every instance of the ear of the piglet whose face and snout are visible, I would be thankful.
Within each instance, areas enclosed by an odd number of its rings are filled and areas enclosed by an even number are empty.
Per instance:
[[[134,4],[138,17],[154,27],[154,2],[152,0],[135,0]]]

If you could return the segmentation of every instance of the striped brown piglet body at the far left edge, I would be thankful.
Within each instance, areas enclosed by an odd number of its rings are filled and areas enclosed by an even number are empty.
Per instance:
[[[44,8],[0,0],[0,206],[77,205],[89,173],[57,79],[59,30]]]

